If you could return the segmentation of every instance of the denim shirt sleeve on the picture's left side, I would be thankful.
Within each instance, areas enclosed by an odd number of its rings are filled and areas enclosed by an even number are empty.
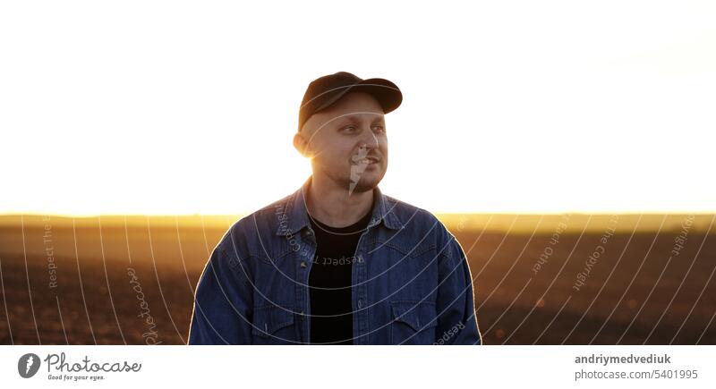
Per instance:
[[[227,250],[222,242],[201,273],[188,344],[251,344],[249,268],[233,245]]]

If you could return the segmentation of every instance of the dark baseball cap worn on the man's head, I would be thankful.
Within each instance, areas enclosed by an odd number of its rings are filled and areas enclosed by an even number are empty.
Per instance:
[[[328,74],[312,80],[308,89],[306,89],[301,102],[301,109],[298,112],[298,131],[301,131],[303,124],[308,121],[311,114],[328,108],[346,93],[356,91],[369,93],[372,97],[375,97],[380,106],[383,107],[384,114],[395,110],[403,101],[403,94],[400,93],[400,89],[397,88],[396,84],[388,80],[362,80],[349,72]]]

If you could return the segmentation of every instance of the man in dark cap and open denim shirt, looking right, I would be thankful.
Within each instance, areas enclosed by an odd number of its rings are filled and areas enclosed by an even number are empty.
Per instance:
[[[465,253],[429,212],[383,195],[388,80],[313,80],[300,190],[236,222],[197,286],[190,344],[480,344]]]

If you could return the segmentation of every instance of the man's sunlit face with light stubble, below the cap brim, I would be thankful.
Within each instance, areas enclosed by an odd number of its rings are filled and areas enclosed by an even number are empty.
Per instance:
[[[367,93],[347,93],[311,115],[301,132],[313,174],[326,176],[348,195],[372,190],[388,170],[383,109]]]

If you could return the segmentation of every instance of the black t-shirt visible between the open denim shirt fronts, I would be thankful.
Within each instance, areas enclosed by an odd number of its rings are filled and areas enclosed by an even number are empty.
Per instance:
[[[353,344],[353,261],[371,215],[372,209],[355,224],[341,228],[311,218],[317,246],[308,282],[311,343]]]

